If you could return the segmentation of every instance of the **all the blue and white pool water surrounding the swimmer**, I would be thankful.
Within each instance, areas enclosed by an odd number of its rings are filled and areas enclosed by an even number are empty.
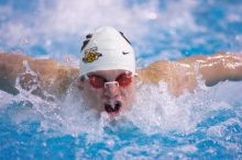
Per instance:
[[[0,52],[67,65],[78,64],[80,37],[107,24],[131,39],[139,67],[242,52],[240,0],[0,0]],[[207,88],[201,81],[179,98],[164,83],[138,88],[133,108],[114,119],[84,106],[73,92],[48,103],[24,91],[0,91],[0,159],[242,159],[242,82]]]

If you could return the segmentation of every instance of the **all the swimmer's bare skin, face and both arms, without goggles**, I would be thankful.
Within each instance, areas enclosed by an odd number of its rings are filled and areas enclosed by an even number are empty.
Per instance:
[[[20,84],[29,90],[28,84],[32,84],[35,77],[23,75],[26,68],[23,61],[28,61],[31,70],[36,73],[40,88],[31,93],[50,100],[44,94],[46,91],[56,99],[63,98],[67,89],[78,77],[79,69],[62,65],[53,59],[33,59],[22,54],[0,54],[0,90],[12,94],[18,94],[15,81],[20,78]],[[113,81],[124,70],[96,71],[108,81]],[[224,80],[242,80],[242,54],[218,53],[210,56],[191,56],[177,61],[158,60],[147,67],[136,71],[139,77],[133,78],[131,85],[120,88],[114,84],[105,89],[92,88],[88,80],[77,79],[77,87],[81,90],[78,96],[85,98],[85,103],[98,111],[112,111],[110,105],[120,105],[119,112],[110,114],[117,115],[122,110],[132,105],[135,96],[135,80],[142,83],[158,84],[160,81],[167,83],[168,91],[175,96],[179,96],[186,91],[193,92],[197,87],[197,77],[201,77],[208,87]],[[113,104],[114,102],[114,104]],[[119,103],[116,103],[119,102]],[[103,105],[108,106],[107,110]]]

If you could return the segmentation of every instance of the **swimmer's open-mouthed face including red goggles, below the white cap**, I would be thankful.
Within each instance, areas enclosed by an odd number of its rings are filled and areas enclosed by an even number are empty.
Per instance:
[[[110,115],[131,107],[135,98],[135,77],[125,70],[90,72],[81,83],[87,104]]]

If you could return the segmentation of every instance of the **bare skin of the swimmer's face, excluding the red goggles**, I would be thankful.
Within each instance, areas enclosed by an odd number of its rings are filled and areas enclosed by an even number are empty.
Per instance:
[[[102,77],[110,82],[116,81],[124,72],[125,70],[100,70],[88,75]],[[78,85],[87,105],[100,112],[106,111],[110,115],[119,115],[131,107],[135,98],[135,77],[132,77],[132,82],[127,87],[108,83],[106,87],[97,89],[85,78],[78,80]]]

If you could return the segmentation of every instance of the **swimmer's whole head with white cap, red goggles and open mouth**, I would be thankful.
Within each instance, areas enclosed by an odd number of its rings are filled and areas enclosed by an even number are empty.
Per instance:
[[[86,36],[81,46],[78,87],[87,104],[119,115],[135,98],[135,56],[121,32],[105,26]]]

